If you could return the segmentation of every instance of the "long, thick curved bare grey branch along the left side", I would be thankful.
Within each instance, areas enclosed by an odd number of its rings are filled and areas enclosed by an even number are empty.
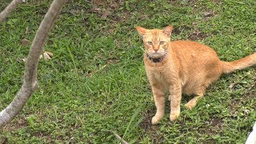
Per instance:
[[[65,2],[67,2],[67,0],[54,0],[45,15],[45,18],[43,18],[26,60],[25,78],[22,88],[18,91],[18,94],[16,94],[13,102],[0,113],[0,129],[9,123],[22,110],[22,107],[25,106],[30,96],[34,93],[34,90],[37,89],[38,58],[42,53],[42,47],[50,32],[50,28]]]

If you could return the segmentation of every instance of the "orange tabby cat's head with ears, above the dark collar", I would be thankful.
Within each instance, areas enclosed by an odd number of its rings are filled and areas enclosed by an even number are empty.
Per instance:
[[[173,26],[166,26],[163,30],[148,30],[140,26],[136,26],[136,29],[143,38],[146,53],[151,58],[161,58],[166,54]]]

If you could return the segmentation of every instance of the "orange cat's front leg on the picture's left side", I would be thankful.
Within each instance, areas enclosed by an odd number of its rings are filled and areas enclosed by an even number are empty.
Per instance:
[[[152,124],[157,124],[165,113],[165,93],[156,85],[152,85],[152,91],[154,94],[154,104],[157,108],[157,112],[152,118]]]

